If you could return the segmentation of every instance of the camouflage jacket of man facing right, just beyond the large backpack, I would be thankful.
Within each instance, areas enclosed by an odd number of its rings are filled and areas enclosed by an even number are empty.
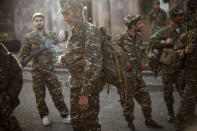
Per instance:
[[[133,71],[140,73],[141,62],[145,59],[146,53],[142,45],[140,33],[136,33],[134,38],[128,32],[117,35],[113,41],[117,43],[129,56],[129,63],[134,65]]]

